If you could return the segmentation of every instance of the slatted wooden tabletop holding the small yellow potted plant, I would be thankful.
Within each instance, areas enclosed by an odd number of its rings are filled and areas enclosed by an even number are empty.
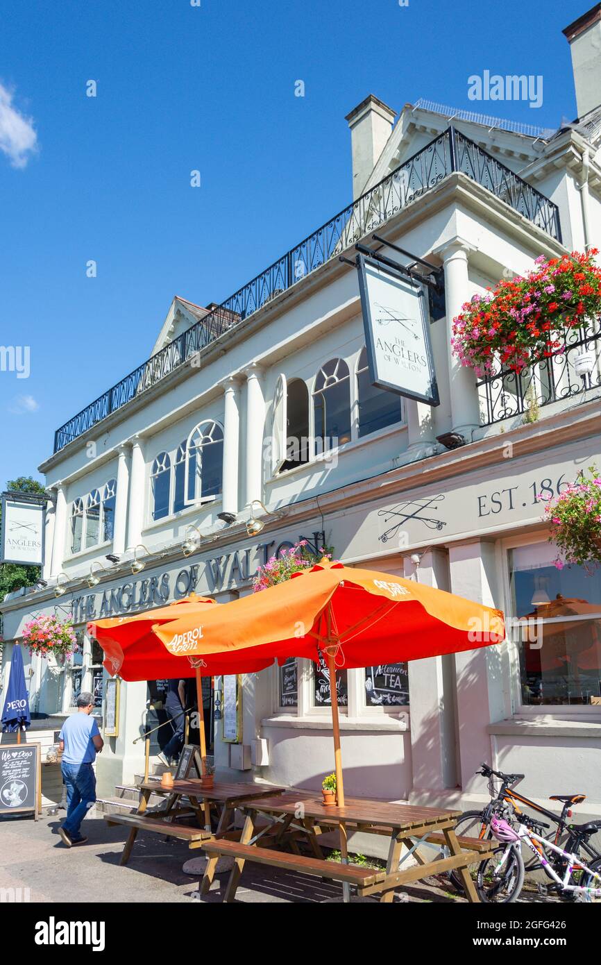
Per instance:
[[[365,797],[345,797],[344,807],[326,807],[321,799],[308,791],[286,791],[279,795],[267,795],[260,801],[238,801],[238,807],[253,808],[269,813],[294,814],[302,804],[307,817],[316,818],[319,823],[338,824],[341,821],[352,824],[378,824],[391,828],[411,828],[424,824],[441,824],[456,817],[458,811],[445,811],[438,808],[422,808],[411,804],[390,804],[388,801],[371,800]]]

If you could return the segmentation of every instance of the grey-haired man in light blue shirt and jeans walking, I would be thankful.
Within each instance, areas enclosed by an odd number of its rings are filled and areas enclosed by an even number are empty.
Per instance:
[[[84,692],[77,698],[77,713],[65,721],[59,734],[63,753],[62,771],[67,786],[67,818],[59,834],[68,847],[88,841],[80,832],[81,822],[96,802],[94,761],[104,741],[98,731],[94,695]]]

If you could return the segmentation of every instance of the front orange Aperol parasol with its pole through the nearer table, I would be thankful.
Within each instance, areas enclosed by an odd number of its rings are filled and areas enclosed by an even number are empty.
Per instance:
[[[261,593],[154,628],[173,654],[232,652],[317,660],[330,671],[338,804],[343,807],[337,667],[414,660],[505,639],[501,611],[422,584],[321,561]],[[341,852],[346,854],[341,828]]]

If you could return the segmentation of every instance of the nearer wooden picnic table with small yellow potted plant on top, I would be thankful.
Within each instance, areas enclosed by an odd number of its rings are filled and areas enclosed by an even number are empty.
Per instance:
[[[467,838],[458,840],[454,833],[458,811],[357,797],[345,798],[342,808],[326,807],[320,796],[304,791],[238,800],[237,808],[246,815],[239,840],[204,841],[200,845],[208,855],[201,884],[202,895],[210,888],[218,859],[228,855],[234,859],[234,865],[224,895],[225,901],[233,901],[245,861],[332,878],[341,881],[343,886],[354,885],[360,896],[379,894],[382,902],[392,901],[396,888],[403,884],[418,881],[430,874],[457,869],[468,900],[479,900],[469,866],[488,855],[491,843]],[[266,821],[266,825],[263,823],[260,829],[257,827],[258,818]],[[323,858],[319,846],[320,835],[341,824],[347,831],[366,831],[390,839],[386,870],[360,868]],[[289,845],[293,853],[275,850],[273,846],[261,846],[265,836],[276,847],[278,844]],[[298,842],[302,839],[309,843],[314,857],[301,854]],[[418,848],[426,841],[440,847],[446,846],[449,856],[425,861]],[[407,851],[401,857],[403,845]],[[409,855],[413,855],[418,864],[402,869]],[[344,897],[348,899],[347,887]]]

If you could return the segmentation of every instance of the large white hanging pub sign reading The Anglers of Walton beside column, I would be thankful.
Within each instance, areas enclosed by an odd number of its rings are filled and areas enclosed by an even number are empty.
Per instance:
[[[439,405],[423,287],[367,255],[356,263],[371,384]]]

